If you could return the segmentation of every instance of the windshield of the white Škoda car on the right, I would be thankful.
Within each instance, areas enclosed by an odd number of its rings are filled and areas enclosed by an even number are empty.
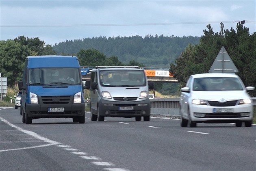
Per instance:
[[[238,78],[232,77],[195,78],[193,82],[193,91],[226,90],[243,90],[243,86]]]

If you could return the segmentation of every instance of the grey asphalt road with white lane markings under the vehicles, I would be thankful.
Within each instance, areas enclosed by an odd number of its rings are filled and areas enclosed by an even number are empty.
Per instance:
[[[151,117],[22,123],[20,108],[0,107],[1,171],[255,171],[256,126]]]

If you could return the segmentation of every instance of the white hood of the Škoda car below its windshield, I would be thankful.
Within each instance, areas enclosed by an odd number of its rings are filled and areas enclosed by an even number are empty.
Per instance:
[[[191,99],[199,100],[240,100],[250,98],[247,91],[193,91],[191,92]]]

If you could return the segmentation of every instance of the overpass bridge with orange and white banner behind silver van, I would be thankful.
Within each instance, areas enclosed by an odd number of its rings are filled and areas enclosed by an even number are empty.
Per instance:
[[[125,67],[125,66],[124,66]],[[82,80],[90,80],[91,78],[91,70],[96,69],[96,67],[81,67]],[[169,68],[150,68],[144,67],[141,68],[145,70],[145,74],[148,78],[148,81],[153,82],[178,82],[171,73],[169,73]]]

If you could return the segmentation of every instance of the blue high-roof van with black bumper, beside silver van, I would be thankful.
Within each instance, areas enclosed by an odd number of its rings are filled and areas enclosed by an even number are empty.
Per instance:
[[[26,57],[18,86],[23,123],[39,118],[72,118],[85,123],[85,87],[76,56]]]

